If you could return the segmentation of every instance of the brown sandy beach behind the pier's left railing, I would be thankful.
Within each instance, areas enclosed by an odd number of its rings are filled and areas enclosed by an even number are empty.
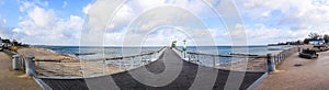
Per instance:
[[[114,66],[80,60],[78,57],[54,53],[45,48],[20,48],[18,53],[23,56],[35,56],[36,74],[44,77],[82,77],[111,75],[121,71]]]

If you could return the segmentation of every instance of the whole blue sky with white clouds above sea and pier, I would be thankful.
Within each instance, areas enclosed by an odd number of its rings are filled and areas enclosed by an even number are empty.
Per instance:
[[[223,1],[0,0],[0,36],[32,45],[120,46],[182,45],[183,40],[232,45],[236,38],[266,45],[329,34],[328,0]]]

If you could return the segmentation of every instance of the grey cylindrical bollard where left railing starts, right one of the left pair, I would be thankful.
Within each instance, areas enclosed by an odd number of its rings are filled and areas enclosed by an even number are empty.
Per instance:
[[[35,75],[34,56],[27,56],[25,59],[26,75],[33,77]]]

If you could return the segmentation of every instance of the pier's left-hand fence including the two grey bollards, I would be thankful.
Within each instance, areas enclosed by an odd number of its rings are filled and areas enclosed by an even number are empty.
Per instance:
[[[143,53],[133,56],[111,57],[103,59],[81,59],[71,61],[69,58],[60,60],[36,59],[34,56],[15,55],[13,66],[24,69],[33,77],[94,77],[104,76],[128,69],[134,69],[158,59],[167,47],[156,52]],[[107,70],[107,71],[106,71]]]

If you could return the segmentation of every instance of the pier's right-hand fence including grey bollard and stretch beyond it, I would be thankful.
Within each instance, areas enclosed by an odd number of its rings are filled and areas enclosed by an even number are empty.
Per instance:
[[[298,47],[283,49],[277,54],[263,55],[212,55],[203,53],[183,52],[174,48],[180,57],[188,61],[198,65],[229,69],[229,70],[247,70],[247,71],[274,71],[275,66],[280,65],[285,58],[298,52]]]

